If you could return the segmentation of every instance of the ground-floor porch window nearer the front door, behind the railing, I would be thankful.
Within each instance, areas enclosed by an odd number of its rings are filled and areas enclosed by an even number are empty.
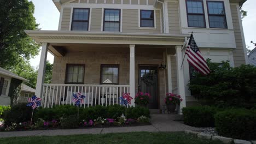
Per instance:
[[[119,65],[101,65],[101,84],[118,84],[119,82]]]

